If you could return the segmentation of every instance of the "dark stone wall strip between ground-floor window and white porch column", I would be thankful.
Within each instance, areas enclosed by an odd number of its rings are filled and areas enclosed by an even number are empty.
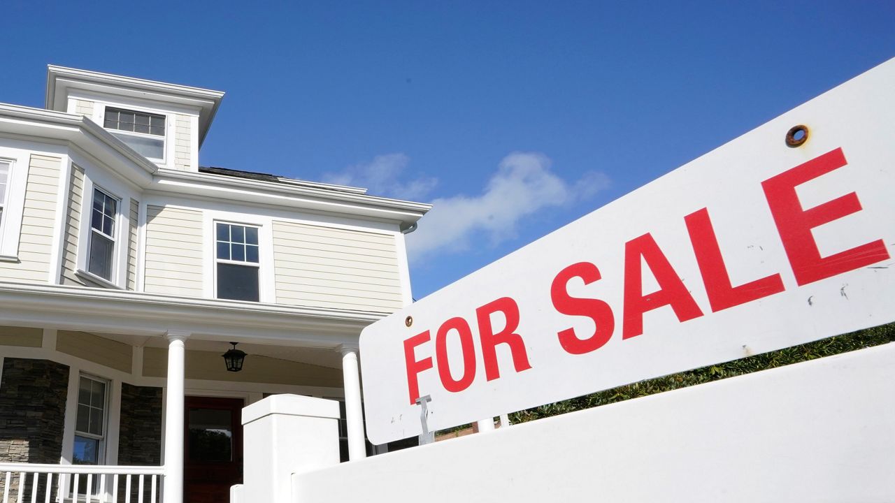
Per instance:
[[[162,388],[121,385],[119,465],[161,465]]]

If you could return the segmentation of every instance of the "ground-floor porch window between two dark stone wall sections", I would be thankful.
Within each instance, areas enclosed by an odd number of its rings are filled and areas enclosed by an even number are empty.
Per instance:
[[[99,465],[103,462],[106,388],[105,381],[81,376],[78,414],[74,425],[74,465]]]

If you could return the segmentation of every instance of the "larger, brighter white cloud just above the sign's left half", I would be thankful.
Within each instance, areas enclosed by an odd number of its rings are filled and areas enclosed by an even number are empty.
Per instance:
[[[411,260],[458,252],[473,238],[496,245],[516,235],[520,221],[549,207],[565,206],[606,188],[609,178],[598,172],[568,183],[550,171],[550,158],[515,152],[500,161],[481,194],[431,201],[433,208],[420,227],[407,235]]]

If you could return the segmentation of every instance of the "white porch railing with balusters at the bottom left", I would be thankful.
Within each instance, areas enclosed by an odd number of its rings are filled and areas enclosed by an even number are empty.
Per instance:
[[[0,463],[2,503],[159,503],[162,466]]]

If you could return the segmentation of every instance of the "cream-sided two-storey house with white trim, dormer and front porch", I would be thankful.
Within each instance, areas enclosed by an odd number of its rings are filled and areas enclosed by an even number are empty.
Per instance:
[[[226,500],[277,393],[343,401],[345,457],[386,448],[357,342],[412,302],[430,206],[200,166],[223,97],[51,65],[46,109],[0,104],[3,501]]]

